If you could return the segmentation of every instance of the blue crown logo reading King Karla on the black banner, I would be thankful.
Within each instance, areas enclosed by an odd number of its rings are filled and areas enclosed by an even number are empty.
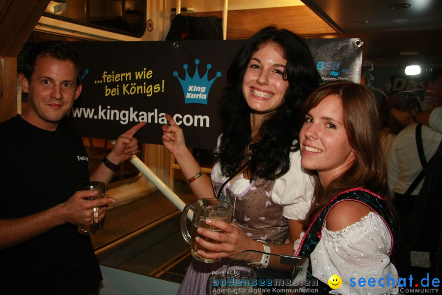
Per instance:
[[[184,103],[200,103],[207,105],[210,87],[212,86],[215,79],[221,77],[221,72],[217,72],[216,77],[214,77],[212,80],[208,80],[207,75],[209,73],[209,70],[212,68],[212,65],[209,63],[206,66],[206,73],[201,78],[199,77],[198,73],[199,59],[195,59],[195,64],[195,73],[193,74],[192,78],[187,72],[187,68],[189,67],[187,64],[183,65],[183,68],[186,70],[186,78],[184,80],[178,77],[177,71],[173,72],[173,76],[175,76],[178,81],[180,81],[181,87],[183,88]]]

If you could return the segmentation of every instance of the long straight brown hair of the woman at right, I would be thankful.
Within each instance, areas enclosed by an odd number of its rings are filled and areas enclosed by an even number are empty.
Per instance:
[[[356,159],[341,175],[336,175],[327,188],[315,178],[313,205],[304,222],[304,230],[319,211],[338,193],[362,187],[383,197],[395,216],[387,182],[385,151],[380,139],[380,118],[372,92],[351,82],[332,82],[316,89],[307,97],[302,108],[303,117],[329,95],[337,95],[343,108],[343,124]]]

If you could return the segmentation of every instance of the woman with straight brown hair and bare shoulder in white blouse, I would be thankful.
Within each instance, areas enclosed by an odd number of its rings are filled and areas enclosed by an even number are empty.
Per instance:
[[[307,278],[318,279],[325,293],[332,275],[342,280],[341,294],[361,277],[378,282],[388,274],[397,284],[390,263],[394,210],[373,95],[359,84],[329,83],[309,95],[302,114],[301,164],[315,174],[315,192],[295,251],[309,257]],[[393,287],[375,289],[370,294]]]

